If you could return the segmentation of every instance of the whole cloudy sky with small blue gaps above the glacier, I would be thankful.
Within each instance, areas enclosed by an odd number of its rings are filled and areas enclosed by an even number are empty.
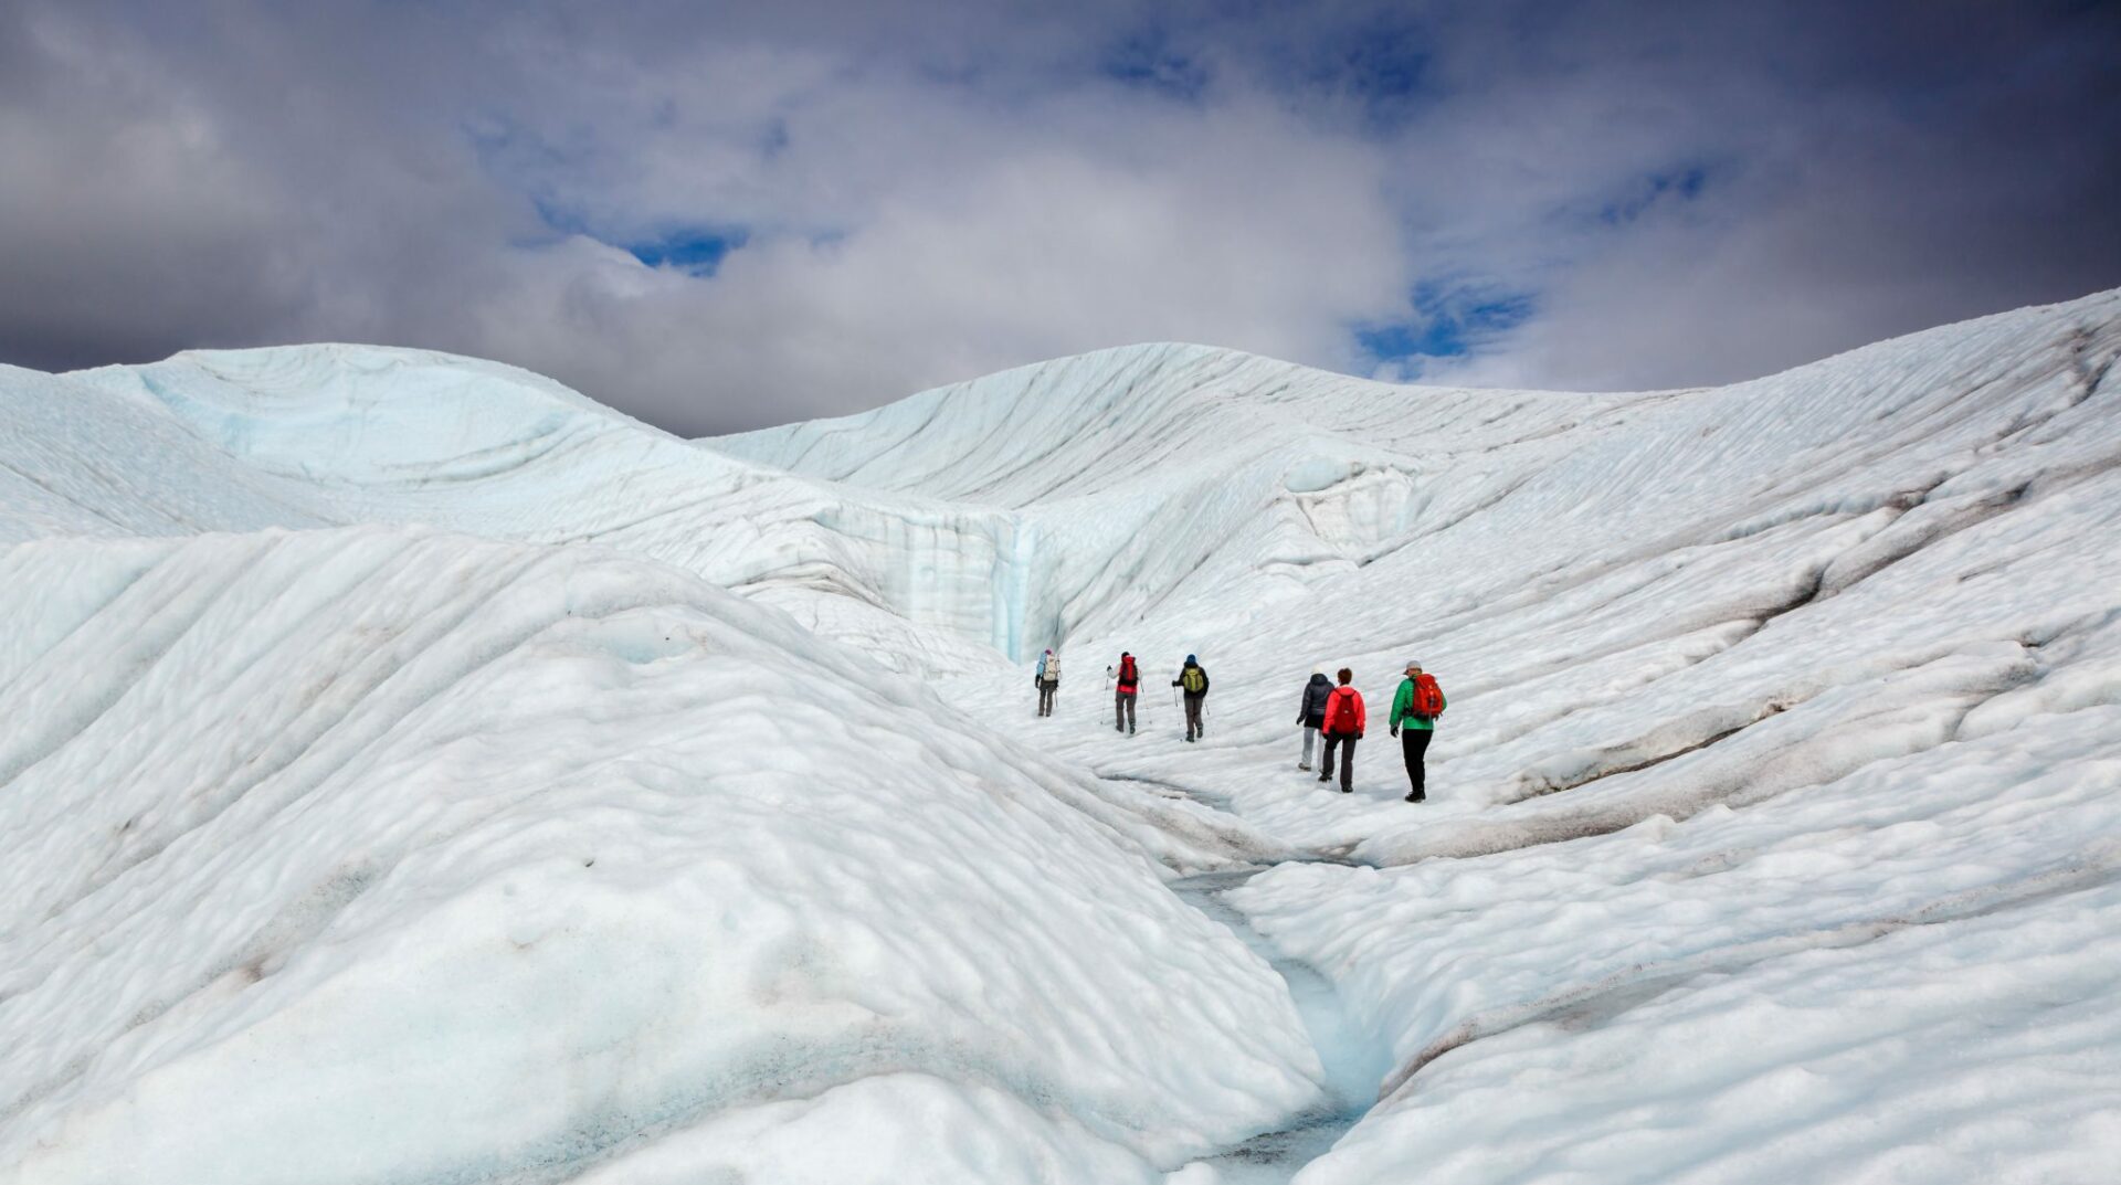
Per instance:
[[[0,362],[681,435],[1137,341],[1746,379],[2121,286],[2121,4],[0,0]]]

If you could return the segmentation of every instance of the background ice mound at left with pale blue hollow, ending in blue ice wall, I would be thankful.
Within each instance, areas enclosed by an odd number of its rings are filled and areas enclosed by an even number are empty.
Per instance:
[[[1027,644],[1027,560],[1010,515],[848,498],[496,362],[299,346],[64,377],[8,371],[0,415],[23,422],[32,445],[19,449],[32,460],[23,490],[0,483],[6,538],[418,524],[670,564],[901,670],[993,668]],[[112,447],[142,449],[144,464]],[[161,509],[163,475],[180,494],[204,490],[189,498],[201,509]]]

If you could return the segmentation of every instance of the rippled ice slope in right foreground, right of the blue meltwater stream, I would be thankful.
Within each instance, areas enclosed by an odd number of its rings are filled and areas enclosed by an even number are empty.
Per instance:
[[[2040,714],[1684,825],[1256,878],[1391,1047],[1298,1181],[2110,1179],[2117,738]]]

